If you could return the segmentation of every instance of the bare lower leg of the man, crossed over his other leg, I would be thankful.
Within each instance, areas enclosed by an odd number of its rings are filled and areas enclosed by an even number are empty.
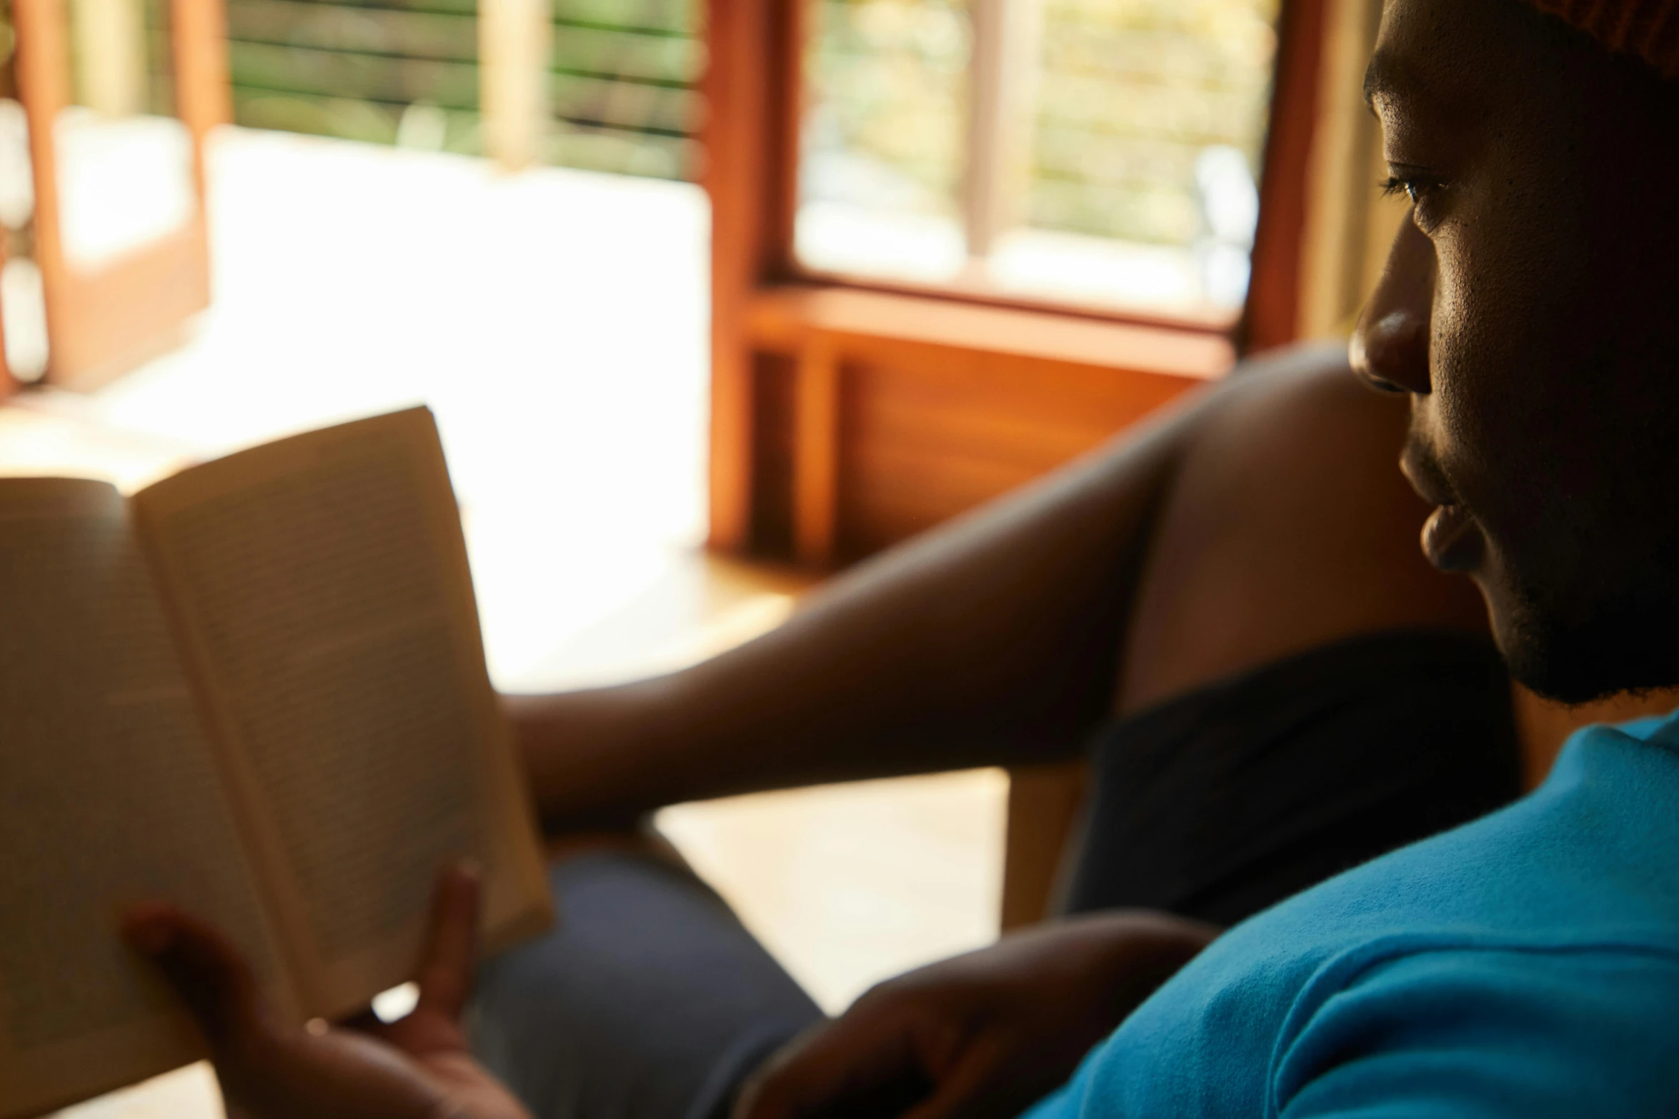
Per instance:
[[[1197,429],[1244,399],[1348,376],[1336,351],[1263,362],[860,565],[739,649],[621,688],[510,696],[546,825],[1073,757],[1111,710],[1152,512]]]

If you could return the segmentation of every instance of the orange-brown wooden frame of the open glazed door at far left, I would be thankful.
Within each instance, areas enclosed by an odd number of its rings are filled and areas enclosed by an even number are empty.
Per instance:
[[[64,253],[54,122],[72,104],[65,0],[13,0],[18,91],[35,178],[35,262],[47,297],[47,379],[96,386],[163,352],[210,305],[205,138],[232,119],[225,15],[218,0],[171,0],[176,114],[193,141],[198,205],[188,223],[99,272]]]

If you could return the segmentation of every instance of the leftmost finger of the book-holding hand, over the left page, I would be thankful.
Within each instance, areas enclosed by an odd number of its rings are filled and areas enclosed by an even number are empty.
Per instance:
[[[123,938],[158,965],[212,1045],[233,1045],[260,1025],[260,995],[250,965],[203,921],[173,906],[146,903],[123,916]]]

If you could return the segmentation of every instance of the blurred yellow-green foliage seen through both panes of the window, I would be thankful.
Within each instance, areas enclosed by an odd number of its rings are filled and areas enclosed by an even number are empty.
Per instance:
[[[964,173],[965,0],[814,0],[811,153],[846,180],[818,195],[895,195],[954,215]],[[1133,242],[1190,243],[1197,159],[1242,153],[1258,178],[1279,0],[1021,0],[1043,5],[1026,221]],[[895,190],[883,186],[887,180]],[[828,183],[838,183],[829,186]]]

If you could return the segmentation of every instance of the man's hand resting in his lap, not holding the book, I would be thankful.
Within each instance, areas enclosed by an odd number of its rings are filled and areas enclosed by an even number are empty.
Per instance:
[[[1214,936],[1164,914],[1078,918],[910,971],[772,1057],[734,1119],[1009,1119]]]

